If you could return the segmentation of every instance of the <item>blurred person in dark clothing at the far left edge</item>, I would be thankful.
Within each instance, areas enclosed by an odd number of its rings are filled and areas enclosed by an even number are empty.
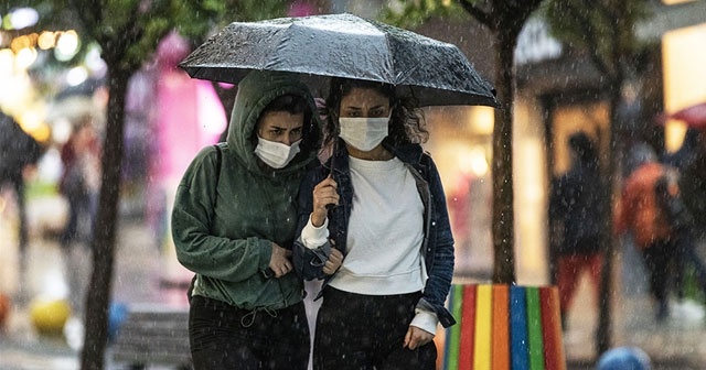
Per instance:
[[[0,189],[9,185],[17,197],[21,268],[26,262],[29,242],[24,173],[29,166],[36,164],[41,154],[42,146],[36,140],[24,132],[12,117],[0,111]]]

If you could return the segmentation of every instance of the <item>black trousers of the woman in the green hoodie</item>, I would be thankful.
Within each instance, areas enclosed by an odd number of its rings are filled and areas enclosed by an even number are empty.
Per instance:
[[[309,363],[303,303],[253,312],[195,295],[189,339],[196,370],[306,370]]]

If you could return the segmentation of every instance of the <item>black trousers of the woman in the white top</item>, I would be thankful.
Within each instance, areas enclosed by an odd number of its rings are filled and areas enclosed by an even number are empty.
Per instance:
[[[362,295],[328,286],[317,318],[315,370],[436,368],[434,341],[403,347],[420,293]]]

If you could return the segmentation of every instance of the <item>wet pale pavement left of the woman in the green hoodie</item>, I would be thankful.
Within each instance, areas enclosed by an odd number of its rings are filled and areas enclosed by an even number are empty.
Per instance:
[[[62,205],[55,202],[33,204],[30,217],[61,214]],[[39,208],[39,209],[38,209]],[[90,253],[84,246],[74,246],[68,259],[60,244],[45,238],[42,232],[32,232],[28,250],[28,268],[20,276],[17,241],[12,219],[13,210],[0,211],[0,291],[9,294],[12,311],[3,330],[0,330],[0,369],[2,370],[76,370],[79,368],[81,341],[83,341],[83,300],[85,283],[90,278]],[[41,227],[36,219],[31,227]],[[51,232],[50,232],[51,233]],[[157,247],[152,232],[137,218],[120,219],[117,230],[113,302],[125,304],[159,303],[185,306],[184,291],[179,279],[189,281],[191,273],[174,265],[171,255]],[[11,276],[11,278],[10,278]],[[165,284],[164,279],[174,284]],[[72,292],[68,294],[68,292]],[[68,296],[72,318],[64,328],[64,338],[50,338],[35,333],[29,308],[39,296]],[[106,369],[129,369],[127,363],[111,360],[110,347],[106,353]],[[148,370],[170,369],[149,366]]]

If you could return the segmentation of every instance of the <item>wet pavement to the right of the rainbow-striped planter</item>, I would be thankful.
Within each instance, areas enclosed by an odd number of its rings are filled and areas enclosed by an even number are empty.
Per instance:
[[[644,350],[652,360],[652,369],[706,369],[704,303],[673,301],[670,317],[657,324],[644,268],[637,252],[623,247],[613,265],[612,347]],[[595,369],[596,306],[584,276],[564,336],[569,369]]]

